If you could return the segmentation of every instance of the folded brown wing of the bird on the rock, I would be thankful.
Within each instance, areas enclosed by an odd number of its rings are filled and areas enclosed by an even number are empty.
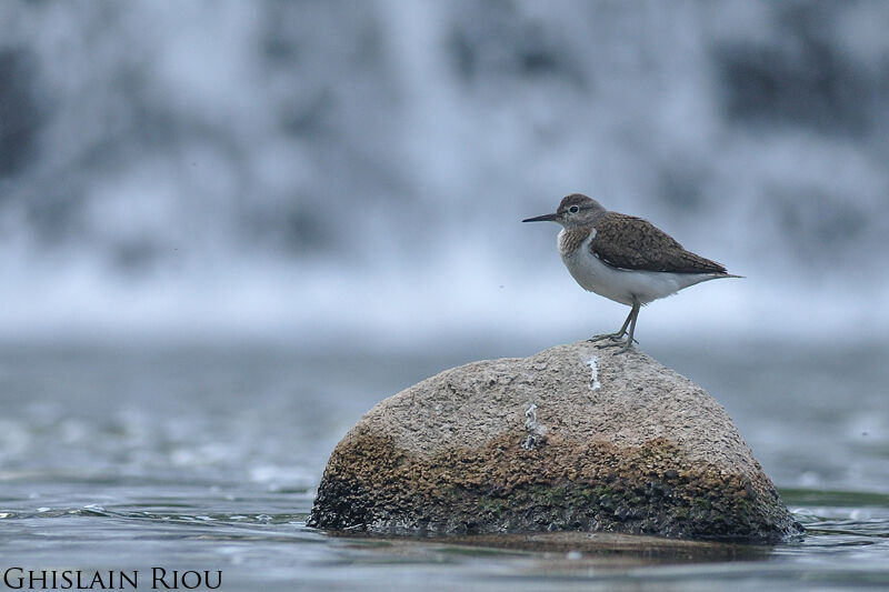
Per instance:
[[[609,265],[621,269],[726,273],[723,265],[686,251],[648,220],[618,212],[606,212],[596,221],[590,250]]]

